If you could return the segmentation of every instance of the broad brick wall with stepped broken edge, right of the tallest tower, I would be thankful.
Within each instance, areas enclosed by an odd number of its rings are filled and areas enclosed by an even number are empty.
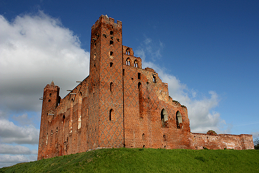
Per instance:
[[[124,55],[124,59],[132,59]],[[124,64],[125,146],[128,148],[189,148],[190,132],[186,107],[168,95],[167,84],[154,71]],[[140,75],[139,75],[140,74]],[[153,80],[153,75],[156,81]],[[140,76],[140,77],[139,77]],[[165,110],[161,120],[161,112]],[[182,114],[177,129],[176,112]]]

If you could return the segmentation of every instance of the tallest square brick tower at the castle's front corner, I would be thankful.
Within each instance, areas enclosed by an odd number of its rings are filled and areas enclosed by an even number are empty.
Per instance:
[[[101,15],[92,26],[89,148],[123,147],[122,22]]]

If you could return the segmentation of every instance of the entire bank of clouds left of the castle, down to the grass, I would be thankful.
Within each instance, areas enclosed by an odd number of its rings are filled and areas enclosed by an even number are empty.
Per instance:
[[[35,161],[43,88],[52,79],[64,97],[89,74],[89,52],[60,19],[39,11],[0,15],[0,167]],[[37,122],[38,124],[39,122]],[[28,146],[25,147],[24,145]]]

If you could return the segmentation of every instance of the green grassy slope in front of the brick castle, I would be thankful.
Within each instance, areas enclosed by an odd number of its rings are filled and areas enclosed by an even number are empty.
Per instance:
[[[0,173],[259,173],[259,150],[101,149],[21,163]]]

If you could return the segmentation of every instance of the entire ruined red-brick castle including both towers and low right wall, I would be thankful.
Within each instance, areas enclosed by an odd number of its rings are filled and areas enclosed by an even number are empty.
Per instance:
[[[190,132],[187,108],[122,45],[122,22],[92,26],[90,73],[63,99],[44,88],[38,160],[95,148],[254,149],[252,135]]]

